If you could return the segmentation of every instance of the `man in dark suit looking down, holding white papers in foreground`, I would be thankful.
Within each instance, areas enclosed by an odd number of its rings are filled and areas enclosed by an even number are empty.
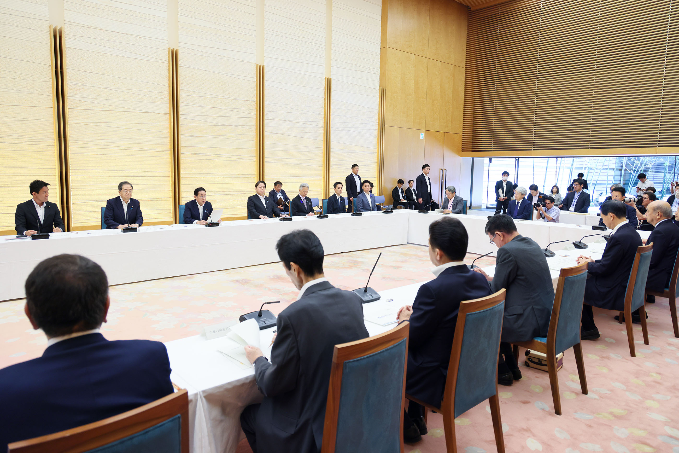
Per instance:
[[[271,361],[245,347],[264,399],[245,408],[240,424],[255,453],[317,453],[335,344],[369,336],[363,304],[325,279],[323,245],[310,230],[285,234],[276,251],[299,295],[278,314]]]

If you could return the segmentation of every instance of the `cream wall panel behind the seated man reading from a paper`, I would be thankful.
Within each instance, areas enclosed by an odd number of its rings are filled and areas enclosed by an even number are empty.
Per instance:
[[[181,200],[205,187],[223,218],[254,193],[255,0],[179,0]]]

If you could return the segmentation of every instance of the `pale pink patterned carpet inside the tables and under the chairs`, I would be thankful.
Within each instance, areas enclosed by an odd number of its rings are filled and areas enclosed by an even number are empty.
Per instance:
[[[325,257],[329,280],[342,289],[365,285],[378,291],[433,278],[426,247],[402,245]],[[468,255],[467,263],[477,255]],[[494,258],[477,261],[494,264]],[[278,313],[297,290],[281,264],[210,272],[111,287],[111,310],[103,333],[109,340],[146,338],[163,342],[196,335],[204,325],[234,319],[280,300]],[[31,329],[24,301],[0,303],[0,367],[42,354],[46,339]],[[650,345],[635,326],[637,357],[629,357],[623,325],[613,312],[595,311],[602,338],[583,342],[589,395],[583,395],[572,350],[559,371],[563,415],[553,412],[547,373],[521,365],[524,378],[500,386],[500,412],[507,452],[672,452],[679,453],[679,339],[672,335],[667,300],[648,306]],[[523,354],[521,350],[521,354]],[[488,405],[456,420],[458,451],[494,452]],[[443,419],[428,418],[429,433],[405,452],[445,452]]]

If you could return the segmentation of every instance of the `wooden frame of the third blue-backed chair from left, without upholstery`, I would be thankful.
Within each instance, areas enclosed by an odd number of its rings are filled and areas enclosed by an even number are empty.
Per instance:
[[[405,395],[410,401],[415,401],[426,407],[426,409],[439,412],[443,415],[443,431],[445,432],[445,449],[447,453],[457,453],[458,446],[455,436],[455,390],[458,384],[458,370],[460,369],[460,352],[462,350],[462,339],[464,337],[464,323],[466,323],[466,315],[472,312],[485,310],[504,302],[504,295],[506,290],[500,289],[497,293],[491,294],[480,299],[467,300],[460,302],[460,310],[458,312],[458,323],[455,327],[455,336],[453,338],[453,347],[450,350],[450,361],[448,364],[448,374],[445,380],[445,391],[443,392],[443,401],[441,407],[436,407],[420,401],[417,398]],[[498,352],[496,357],[499,359],[500,342],[497,346]],[[495,373],[497,374],[498,361],[495,363]],[[498,398],[498,384],[495,384],[495,395],[488,399],[490,402],[490,416],[493,420],[493,431],[495,434],[495,444],[498,453],[504,453],[504,437],[502,435],[502,420],[500,420],[500,399]],[[426,412],[425,412],[426,414]]]

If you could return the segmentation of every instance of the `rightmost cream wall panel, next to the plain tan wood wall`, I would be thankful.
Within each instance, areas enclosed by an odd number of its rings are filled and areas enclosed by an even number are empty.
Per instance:
[[[329,194],[352,164],[378,183],[381,14],[380,0],[333,0]]]

